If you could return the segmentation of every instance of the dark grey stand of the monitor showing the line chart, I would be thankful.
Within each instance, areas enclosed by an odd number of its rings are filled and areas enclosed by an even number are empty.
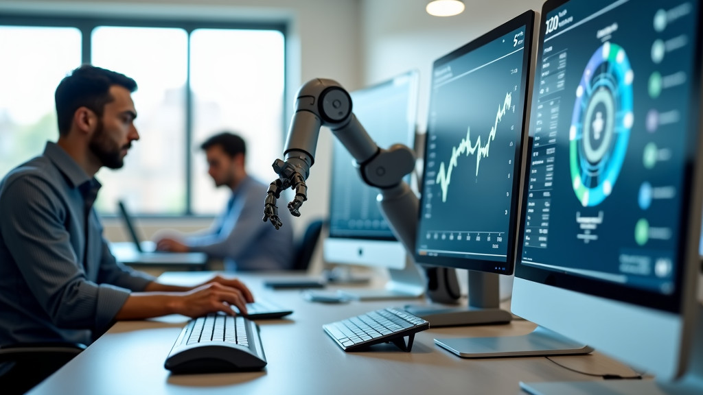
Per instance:
[[[453,271],[454,269],[440,268],[439,270]],[[501,300],[498,290],[500,278],[498,276],[500,275],[496,273],[469,271],[468,306],[456,307],[446,304],[407,305],[404,309],[408,313],[430,321],[431,328],[510,323],[512,314],[509,311],[500,309]],[[451,280],[439,280],[437,286],[451,287]],[[446,292],[437,290],[433,292],[433,294],[440,295],[451,293],[451,290],[446,290]],[[430,296],[431,298],[432,296]],[[434,302],[437,302],[437,300],[434,300]]]

